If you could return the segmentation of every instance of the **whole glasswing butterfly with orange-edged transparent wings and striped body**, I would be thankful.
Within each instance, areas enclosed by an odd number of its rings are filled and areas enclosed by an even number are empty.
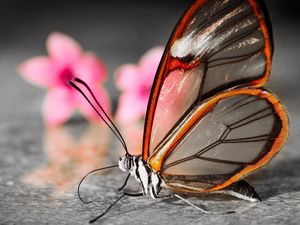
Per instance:
[[[177,23],[156,73],[141,155],[129,154],[97,103],[99,116],[126,151],[112,166],[129,173],[120,190],[130,176],[141,186],[140,193],[123,192],[113,204],[125,195],[160,198],[162,188],[195,208],[179,193],[258,201],[243,178],[267,164],[288,136],[284,106],[263,88],[273,46],[263,1],[195,0]],[[82,80],[75,82],[91,92]]]

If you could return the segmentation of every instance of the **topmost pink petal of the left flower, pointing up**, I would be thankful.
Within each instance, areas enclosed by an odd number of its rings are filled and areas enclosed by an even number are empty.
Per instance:
[[[49,56],[60,65],[72,65],[81,56],[80,45],[71,37],[62,33],[52,33],[47,39]]]

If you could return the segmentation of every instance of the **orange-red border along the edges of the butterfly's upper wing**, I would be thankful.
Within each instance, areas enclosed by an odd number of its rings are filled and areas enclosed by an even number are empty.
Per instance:
[[[149,158],[149,148],[150,148],[150,139],[151,139],[151,132],[152,132],[152,125],[154,120],[154,114],[155,114],[155,108],[157,105],[158,97],[160,90],[162,88],[162,84],[164,81],[164,75],[166,71],[168,71],[168,66],[170,62],[170,48],[174,44],[174,42],[179,39],[185,30],[185,28],[188,26],[189,22],[191,21],[194,14],[201,8],[208,0],[196,0],[183,14],[183,16],[180,18],[179,22],[175,26],[172,35],[167,43],[166,49],[164,51],[162,60],[160,62],[159,68],[157,70],[157,74],[154,78],[154,82],[152,85],[148,107],[147,107],[147,113],[146,113],[146,120],[145,120],[145,126],[144,126],[144,136],[143,136],[143,153],[142,158],[144,161],[147,161]],[[253,86],[253,87],[261,87],[263,86],[269,79],[269,74],[271,71],[271,61],[272,61],[272,39],[269,36],[269,30],[272,32],[271,27],[267,26],[265,23],[263,13],[260,10],[260,7],[258,6],[257,1],[255,0],[248,0],[249,4],[253,8],[253,11],[255,15],[258,18],[260,28],[262,30],[263,36],[264,36],[264,42],[265,42],[265,48],[264,53],[266,56],[266,69],[264,72],[264,75],[262,78],[257,79],[255,81],[246,83],[244,85],[246,86]],[[262,3],[259,3],[259,5],[262,5]],[[264,8],[264,7],[262,7]],[[267,12],[265,13],[266,20],[268,20]]]

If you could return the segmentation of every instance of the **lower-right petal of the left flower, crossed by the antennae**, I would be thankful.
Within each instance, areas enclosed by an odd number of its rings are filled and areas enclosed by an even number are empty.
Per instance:
[[[93,85],[90,87],[91,90],[93,91],[96,99],[98,102],[101,104],[105,112],[110,115],[110,101],[108,98],[108,95],[105,91],[105,89],[100,88],[97,85]],[[87,93],[86,93],[87,94]],[[96,106],[95,101],[92,99],[92,97],[87,94],[87,97],[91,100],[91,102],[94,104],[94,106],[99,110],[99,107]],[[95,112],[95,110],[91,107],[91,105],[86,101],[85,98],[83,98],[80,94],[77,94],[77,107],[78,109],[85,115],[85,117],[91,121],[100,121],[101,119],[99,118],[98,114]]]

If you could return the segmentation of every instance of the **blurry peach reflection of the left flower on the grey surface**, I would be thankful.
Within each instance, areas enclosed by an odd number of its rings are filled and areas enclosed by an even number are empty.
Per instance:
[[[22,180],[26,183],[65,192],[87,172],[104,166],[108,160],[110,133],[104,125],[90,124],[79,137],[65,126],[47,127],[44,136],[47,161],[25,173]]]

